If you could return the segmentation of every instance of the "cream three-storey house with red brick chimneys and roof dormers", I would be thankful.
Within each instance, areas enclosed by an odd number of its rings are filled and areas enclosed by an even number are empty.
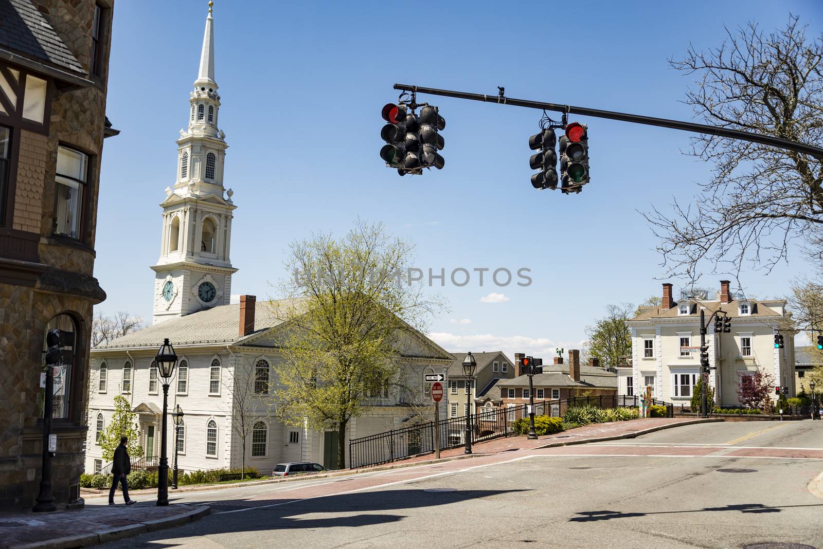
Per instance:
[[[709,346],[709,385],[715,402],[738,406],[737,387],[741,376],[760,369],[774,377],[776,385],[788,386],[794,394],[794,332],[785,330],[790,315],[779,299],[746,299],[729,291],[728,280],[720,290],[682,291],[672,296],[672,284],[663,284],[663,304],[641,307],[627,321],[631,330],[631,363],[618,367],[618,394],[639,395],[652,387],[655,399],[688,404],[700,376],[700,309],[706,320],[715,311],[724,311],[731,322],[730,333],[715,333],[714,319],[706,333]],[[774,348],[774,334],[784,334],[783,348]],[[774,395],[774,399],[777,396]]]

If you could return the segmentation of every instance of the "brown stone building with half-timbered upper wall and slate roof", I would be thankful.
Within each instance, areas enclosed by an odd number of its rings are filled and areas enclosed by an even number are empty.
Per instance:
[[[0,510],[40,488],[44,342],[74,334],[55,370],[53,496],[82,505],[93,276],[114,0],[0,0]]]

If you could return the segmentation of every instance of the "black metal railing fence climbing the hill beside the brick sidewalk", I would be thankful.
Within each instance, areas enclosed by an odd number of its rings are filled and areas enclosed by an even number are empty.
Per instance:
[[[603,394],[570,399],[541,400],[534,403],[535,415],[559,418],[568,408],[584,405],[597,408],[636,407],[637,397],[616,394]],[[672,417],[671,404],[653,401],[653,404],[665,405],[667,417]],[[479,408],[470,418],[472,442],[489,441],[512,433],[512,424],[520,418],[528,418],[528,404],[509,406],[507,408]],[[435,452],[435,429],[439,428],[440,450],[455,448],[466,443],[466,417],[447,418],[439,422],[419,422],[408,427],[401,427],[370,436],[349,441],[349,464],[351,468],[384,464],[395,459],[412,455],[431,454]]]

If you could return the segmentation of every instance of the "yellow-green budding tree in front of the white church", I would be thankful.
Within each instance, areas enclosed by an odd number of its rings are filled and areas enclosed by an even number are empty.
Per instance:
[[[272,404],[283,422],[337,431],[337,467],[346,463],[346,426],[387,385],[402,385],[400,357],[440,304],[422,286],[401,283],[413,246],[382,224],[358,220],[341,239],[330,234],[291,245],[281,284],[294,298],[272,314],[284,321],[284,360]]]

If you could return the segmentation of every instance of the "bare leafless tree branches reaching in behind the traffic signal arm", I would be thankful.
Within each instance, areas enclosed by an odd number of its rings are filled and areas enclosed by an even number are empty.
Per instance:
[[[793,15],[769,35],[750,23],[727,29],[718,48],[690,45],[683,60],[669,62],[700,76],[685,102],[706,123],[821,146],[823,35],[807,39],[806,31]],[[661,239],[667,276],[694,281],[705,267],[737,275],[750,262],[769,272],[793,238],[823,253],[820,159],[705,135],[686,154],[714,164],[711,181],[690,205],[675,200],[671,214],[644,214]]]

